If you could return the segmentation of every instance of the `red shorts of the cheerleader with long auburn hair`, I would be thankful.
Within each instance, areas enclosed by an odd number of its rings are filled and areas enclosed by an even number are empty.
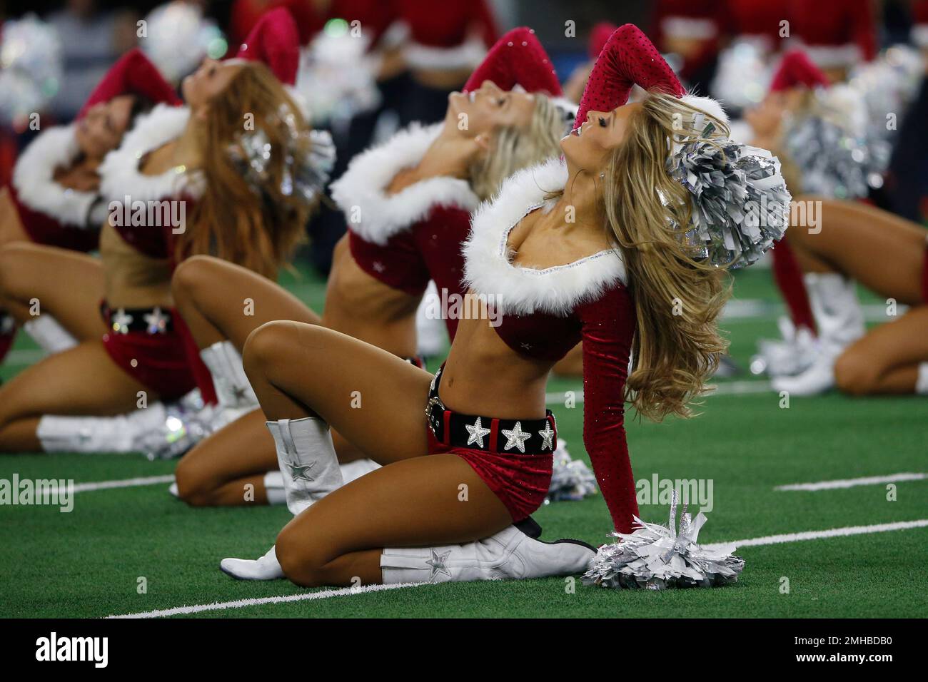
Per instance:
[[[175,311],[172,313],[176,315]],[[187,362],[184,339],[176,331],[163,334],[129,331],[121,334],[110,329],[103,335],[103,347],[126,374],[156,393],[161,400],[174,400],[197,387]]]

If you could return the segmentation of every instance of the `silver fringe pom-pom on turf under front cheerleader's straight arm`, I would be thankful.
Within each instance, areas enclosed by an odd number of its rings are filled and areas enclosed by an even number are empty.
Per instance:
[[[599,547],[584,585],[601,587],[713,587],[738,581],[744,560],[731,554],[734,545],[707,549],[696,544],[705,515],[695,519],[683,508],[677,533],[677,491],[667,526],[635,517],[639,528],[631,534],[613,533],[619,541]]]

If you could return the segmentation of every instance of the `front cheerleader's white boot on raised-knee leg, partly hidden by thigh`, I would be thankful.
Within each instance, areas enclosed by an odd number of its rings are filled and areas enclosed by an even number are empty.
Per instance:
[[[329,424],[313,417],[278,419],[268,421],[267,429],[274,437],[287,508],[293,516],[342,487],[342,470]],[[219,568],[239,580],[284,577],[274,547],[259,560],[224,559]]]

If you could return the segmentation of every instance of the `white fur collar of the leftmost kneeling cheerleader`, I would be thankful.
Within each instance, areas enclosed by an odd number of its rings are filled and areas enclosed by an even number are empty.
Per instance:
[[[63,187],[55,180],[55,170],[71,165],[79,152],[73,124],[57,125],[38,135],[19,155],[13,171],[19,200],[62,225],[86,227],[99,195]]]

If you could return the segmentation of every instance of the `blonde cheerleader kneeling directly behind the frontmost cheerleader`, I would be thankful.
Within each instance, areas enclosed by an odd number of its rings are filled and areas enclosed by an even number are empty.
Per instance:
[[[470,212],[506,176],[559,152],[569,120],[560,95],[534,32],[514,29],[464,91],[449,97],[445,122],[413,124],[355,157],[332,185],[348,233],[335,250],[321,318],[274,282],[234,264],[195,257],[177,268],[174,300],[211,370],[224,410],[216,426],[229,424],[181,460],[176,480],[183,499],[197,506],[246,504],[242,492],[251,484],[254,501],[284,501],[273,441],[239,354],[264,322],[321,324],[422,367],[415,315],[426,286],[432,279],[445,298],[463,297],[460,246]],[[463,130],[462,120],[468,122]],[[244,300],[253,302],[253,315],[241,314]],[[458,318],[445,315],[445,325],[453,339]],[[367,457],[337,433],[333,438],[342,463]],[[351,469],[368,467],[359,462]]]

